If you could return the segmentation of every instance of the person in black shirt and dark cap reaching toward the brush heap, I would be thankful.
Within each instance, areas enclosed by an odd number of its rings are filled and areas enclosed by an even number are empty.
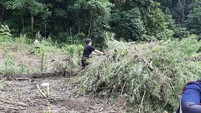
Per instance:
[[[92,54],[94,55],[103,55],[104,53],[95,49],[92,46],[92,40],[90,38],[87,38],[85,40],[86,46],[84,47],[83,55],[82,55],[82,68],[84,69],[89,63],[87,62],[88,58],[92,57]]]

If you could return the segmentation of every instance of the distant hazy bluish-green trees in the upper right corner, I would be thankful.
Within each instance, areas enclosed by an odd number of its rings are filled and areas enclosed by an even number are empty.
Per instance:
[[[161,3],[161,8],[171,11],[173,19],[176,20],[177,26],[182,28],[175,29],[176,36],[186,34],[186,28],[190,33],[200,34],[200,9],[201,0],[155,0]],[[186,28],[184,28],[186,27]],[[180,31],[180,32],[178,32]],[[182,35],[181,35],[182,36]]]

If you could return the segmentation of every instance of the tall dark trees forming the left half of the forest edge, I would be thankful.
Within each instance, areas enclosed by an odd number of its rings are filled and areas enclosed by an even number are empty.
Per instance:
[[[112,6],[107,0],[8,0],[0,4],[5,17],[2,22],[12,28],[12,33],[33,37],[40,31],[46,38],[67,42],[73,40],[67,37],[76,34],[103,38]]]

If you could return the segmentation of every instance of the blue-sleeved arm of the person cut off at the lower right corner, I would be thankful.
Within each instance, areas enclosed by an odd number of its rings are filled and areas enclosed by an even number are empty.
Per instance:
[[[183,113],[201,113],[200,90],[198,84],[190,84],[185,87],[181,100]]]

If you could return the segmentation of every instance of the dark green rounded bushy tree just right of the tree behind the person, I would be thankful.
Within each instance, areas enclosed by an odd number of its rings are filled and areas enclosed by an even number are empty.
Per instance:
[[[139,8],[113,13],[110,26],[117,39],[143,40],[142,35],[145,33],[145,28]]]

